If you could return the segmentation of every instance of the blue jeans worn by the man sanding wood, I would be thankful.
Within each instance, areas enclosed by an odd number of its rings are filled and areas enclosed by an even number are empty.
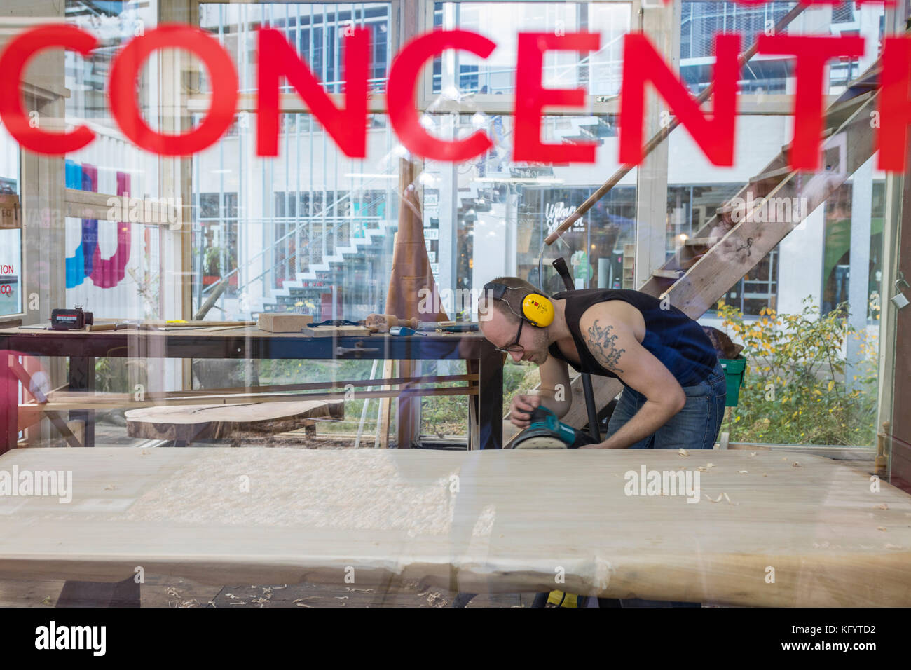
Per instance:
[[[686,394],[686,405],[681,411],[670,417],[670,420],[647,438],[630,448],[633,449],[711,449],[722,429],[724,404],[727,398],[727,384],[721,363],[700,384],[683,387]],[[625,387],[617,407],[608,423],[608,435],[616,433],[640,407],[645,404],[645,396],[630,387]]]

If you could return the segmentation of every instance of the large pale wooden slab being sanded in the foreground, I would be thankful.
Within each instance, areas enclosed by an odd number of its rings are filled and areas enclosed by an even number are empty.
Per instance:
[[[709,462],[698,503],[624,493],[628,470]],[[14,466],[71,470],[74,493],[0,498],[0,578],[120,580],[142,566],[503,593],[554,588],[562,572],[562,590],[612,597],[911,605],[911,496],[818,457],[60,448],[0,457]]]

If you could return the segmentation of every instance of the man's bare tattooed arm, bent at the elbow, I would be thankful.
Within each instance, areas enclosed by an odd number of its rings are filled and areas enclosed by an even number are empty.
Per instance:
[[[627,448],[668,422],[686,403],[677,379],[636,339],[629,323],[606,304],[586,310],[579,323],[592,356],[646,397],[635,416],[605,441],[589,448]]]

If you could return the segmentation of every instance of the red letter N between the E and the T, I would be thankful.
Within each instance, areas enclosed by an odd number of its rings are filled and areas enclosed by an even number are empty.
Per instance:
[[[739,35],[715,36],[715,68],[711,121],[681,80],[642,33],[630,33],[623,44],[623,88],[620,90],[619,159],[631,165],[642,161],[645,84],[650,81],[670,111],[690,131],[714,165],[733,165],[734,120],[737,113],[737,77],[740,71]]]

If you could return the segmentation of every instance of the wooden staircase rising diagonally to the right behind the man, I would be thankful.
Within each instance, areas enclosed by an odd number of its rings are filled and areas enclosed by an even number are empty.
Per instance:
[[[870,119],[879,97],[879,67],[877,61],[849,84],[844,94],[826,110],[822,170],[791,170],[788,167],[790,146],[785,145],[781,153],[734,196],[742,201],[747,201],[748,194],[752,197],[752,208],[745,216],[734,221],[732,198],[684,243],[675,257],[655,270],[639,290],[659,298],[667,296],[670,304],[692,319],[699,318],[731,290],[873,155],[874,131]],[[776,209],[779,202],[793,203],[802,198],[805,206],[800,208],[799,216],[776,216],[774,218],[786,220],[773,222],[764,216]],[[760,212],[763,216],[757,216]],[[591,379],[599,408],[605,407],[622,389],[619,380],[611,377],[592,376]],[[588,422],[581,377],[573,381],[572,393],[572,407],[562,420],[581,428]]]

